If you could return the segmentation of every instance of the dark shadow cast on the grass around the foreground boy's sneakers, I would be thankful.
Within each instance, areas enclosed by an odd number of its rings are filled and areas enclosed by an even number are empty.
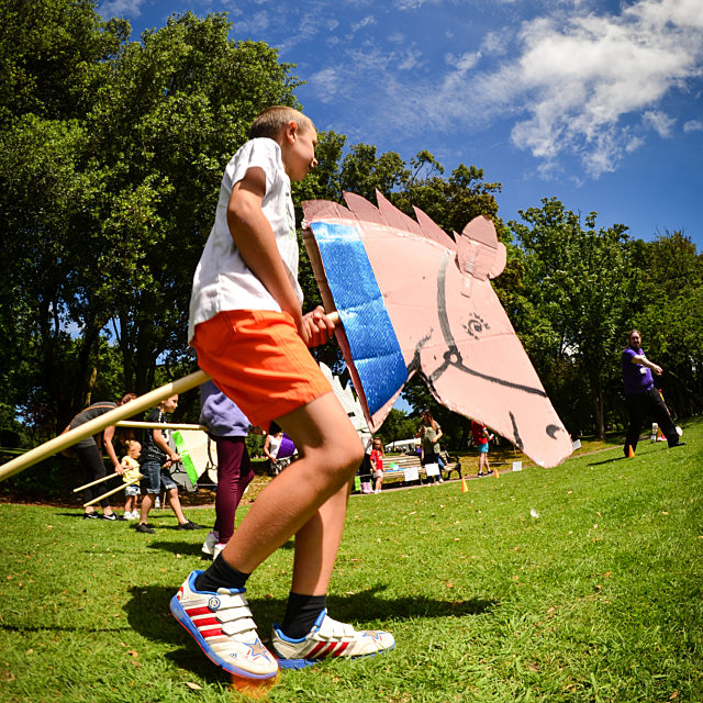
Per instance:
[[[330,611],[335,620],[362,625],[368,621],[392,621],[419,617],[447,617],[480,615],[492,610],[498,601],[471,599],[469,601],[444,601],[431,598],[400,598],[384,600],[378,594],[386,590],[379,584],[372,589],[347,596],[331,595]],[[125,604],[130,626],[153,641],[164,641],[175,649],[166,655],[181,669],[192,671],[205,680],[228,681],[217,667],[199,651],[198,645],[183,627],[170,615],[169,603],[177,588],[161,585],[133,587]],[[259,636],[266,644],[271,624],[280,620],[286,611],[284,599],[252,599],[249,601],[258,625]],[[362,620],[361,620],[362,617]],[[179,649],[176,649],[179,647]]]

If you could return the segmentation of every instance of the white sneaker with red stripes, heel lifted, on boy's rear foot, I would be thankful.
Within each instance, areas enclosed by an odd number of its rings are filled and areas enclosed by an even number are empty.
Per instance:
[[[246,589],[198,591],[193,571],[171,599],[171,614],[205,656],[225,671],[246,679],[271,679],[278,662],[261,644],[252,620]]]

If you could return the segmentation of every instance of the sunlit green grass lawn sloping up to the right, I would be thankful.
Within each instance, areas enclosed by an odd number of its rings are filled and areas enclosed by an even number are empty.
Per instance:
[[[685,429],[679,449],[643,442],[468,493],[353,496],[330,610],[397,648],[284,672],[269,700],[703,701],[703,421]],[[0,700],[243,700],[168,613],[205,533],[165,511],[153,536],[79,515],[0,505]],[[290,547],[249,581],[265,638]]]

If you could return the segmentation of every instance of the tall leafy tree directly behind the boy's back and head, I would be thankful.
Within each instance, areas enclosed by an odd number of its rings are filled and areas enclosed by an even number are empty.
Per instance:
[[[265,107],[297,105],[291,67],[228,31],[223,14],[187,13],[123,45],[88,115],[104,186],[97,266],[120,282],[94,290],[110,302],[137,392],[153,387],[157,359],[189,358],[192,275],[224,166]]]

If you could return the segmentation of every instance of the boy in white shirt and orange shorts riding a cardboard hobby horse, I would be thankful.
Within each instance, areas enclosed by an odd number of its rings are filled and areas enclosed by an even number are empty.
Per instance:
[[[308,346],[334,325],[322,308],[302,313],[290,182],[314,168],[309,118],[277,105],[253,123],[225,169],[215,223],[196,270],[189,343],[200,367],[254,425],[272,421],[300,459],[252,505],[221,555],[193,571],[171,613],[205,655],[231,673],[269,679],[326,656],[359,657],[394,646],[384,632],[359,632],[327,615],[326,592],[342,539],[347,487],[362,447]],[[258,638],[246,580],[295,535],[291,592],[271,651]]]

